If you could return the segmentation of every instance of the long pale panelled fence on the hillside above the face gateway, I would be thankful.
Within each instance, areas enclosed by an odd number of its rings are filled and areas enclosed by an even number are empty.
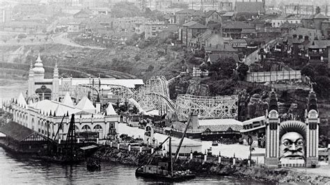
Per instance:
[[[301,79],[300,71],[248,72],[246,74],[246,81],[258,83],[292,79]]]

